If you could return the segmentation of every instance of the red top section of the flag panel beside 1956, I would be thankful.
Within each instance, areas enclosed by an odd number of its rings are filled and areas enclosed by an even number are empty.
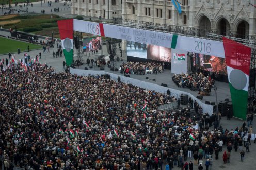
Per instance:
[[[73,19],[58,20],[60,39],[73,39]]]

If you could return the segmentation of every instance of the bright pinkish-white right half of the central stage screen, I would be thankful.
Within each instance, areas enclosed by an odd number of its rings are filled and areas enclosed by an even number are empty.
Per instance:
[[[148,44],[147,59],[171,62],[171,48]]]

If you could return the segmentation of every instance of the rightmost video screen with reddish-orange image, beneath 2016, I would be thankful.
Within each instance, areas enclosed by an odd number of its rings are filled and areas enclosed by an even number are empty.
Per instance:
[[[218,72],[222,75],[227,75],[227,66],[225,58],[209,56],[204,54],[193,54],[193,65],[200,66],[202,69]]]

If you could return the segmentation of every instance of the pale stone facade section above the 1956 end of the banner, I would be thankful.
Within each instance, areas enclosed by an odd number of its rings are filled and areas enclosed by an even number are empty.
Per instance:
[[[121,0],[72,0],[71,14],[112,19],[121,17]]]

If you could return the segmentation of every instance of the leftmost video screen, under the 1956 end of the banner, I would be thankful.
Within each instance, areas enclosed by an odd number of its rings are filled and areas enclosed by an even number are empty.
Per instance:
[[[86,38],[83,39],[83,50],[84,52],[94,52],[101,50],[101,37],[93,37],[93,38]]]

